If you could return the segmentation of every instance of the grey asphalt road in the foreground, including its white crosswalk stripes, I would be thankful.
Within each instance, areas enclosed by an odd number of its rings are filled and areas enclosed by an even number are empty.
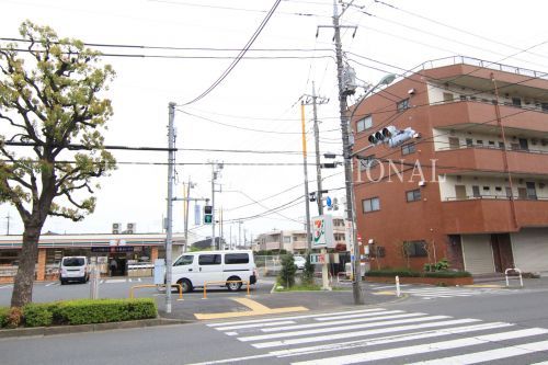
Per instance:
[[[7,339],[0,341],[0,353],[5,364],[537,364],[548,360],[548,286],[476,294],[423,286],[403,290],[407,299],[381,306]]]

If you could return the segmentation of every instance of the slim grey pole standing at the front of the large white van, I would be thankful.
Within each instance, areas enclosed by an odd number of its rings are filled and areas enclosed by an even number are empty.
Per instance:
[[[169,103],[168,123],[168,224],[165,228],[165,312],[171,313],[171,251],[173,230],[173,170],[175,167],[175,103]]]

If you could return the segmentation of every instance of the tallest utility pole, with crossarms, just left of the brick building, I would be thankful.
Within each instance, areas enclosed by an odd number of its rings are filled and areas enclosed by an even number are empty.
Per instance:
[[[355,305],[364,304],[364,295],[362,293],[361,280],[362,280],[362,269],[359,247],[356,239],[356,229],[354,227],[354,213],[353,210],[353,199],[352,199],[352,149],[350,145],[350,134],[349,134],[349,117],[346,115],[347,104],[346,104],[346,92],[344,88],[344,65],[343,65],[343,54],[341,44],[341,27],[350,27],[356,30],[355,26],[341,25],[340,19],[344,14],[345,9],[347,9],[354,0],[351,1],[346,8],[343,9],[341,14],[339,14],[339,8],[336,5],[336,0],[333,0],[333,25],[319,25],[320,27],[332,27],[334,30],[334,43],[335,43],[335,58],[336,58],[336,79],[339,83],[339,113],[341,116],[341,132],[342,132],[342,142],[343,142],[343,156],[344,156],[344,181],[345,181],[345,195],[346,195],[346,223],[351,225],[352,237],[354,250],[352,252],[354,261],[354,277],[352,282],[352,293],[354,296]]]

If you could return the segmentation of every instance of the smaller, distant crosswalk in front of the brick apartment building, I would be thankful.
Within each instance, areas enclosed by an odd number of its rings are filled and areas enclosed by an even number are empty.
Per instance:
[[[373,293],[395,292],[395,285],[372,285]],[[513,292],[503,287],[459,287],[459,286],[418,286],[400,285],[400,292],[422,299],[471,297],[490,294],[511,294]]]

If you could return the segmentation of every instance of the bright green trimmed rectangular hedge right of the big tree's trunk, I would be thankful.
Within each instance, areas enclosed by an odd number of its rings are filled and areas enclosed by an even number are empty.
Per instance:
[[[54,308],[59,324],[88,324],[156,318],[153,299],[80,299],[60,301]]]

